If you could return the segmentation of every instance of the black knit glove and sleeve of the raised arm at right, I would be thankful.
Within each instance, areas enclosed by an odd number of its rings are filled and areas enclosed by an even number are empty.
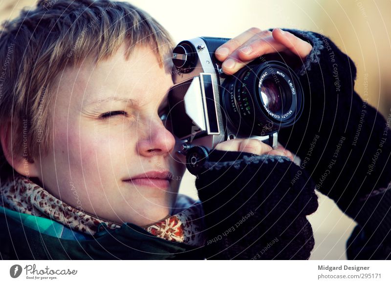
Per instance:
[[[354,63],[330,39],[288,31],[313,50],[297,70],[304,113],[280,131],[279,141],[298,154],[316,189],[353,218],[369,242],[390,247],[391,114],[384,118],[368,104],[367,94],[363,100],[354,91]]]

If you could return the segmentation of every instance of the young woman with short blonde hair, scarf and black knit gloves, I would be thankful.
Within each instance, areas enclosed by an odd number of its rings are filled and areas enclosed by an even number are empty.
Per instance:
[[[177,193],[185,165],[162,121],[173,42],[148,14],[41,0],[0,37],[2,259],[308,259],[315,188],[359,223],[350,257],[389,257],[390,133],[366,105],[355,139],[355,68],[322,35],[252,28],[217,50],[227,74],[266,53],[298,62],[305,110],[281,142],[302,164],[257,140],[222,142],[200,201]]]

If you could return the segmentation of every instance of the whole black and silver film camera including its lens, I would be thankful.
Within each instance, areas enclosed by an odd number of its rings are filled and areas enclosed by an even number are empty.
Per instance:
[[[234,75],[221,70],[216,49],[229,39],[199,37],[173,50],[170,130],[181,140],[193,174],[218,143],[253,138],[277,146],[278,130],[303,109],[303,89],[279,54],[262,56]]]

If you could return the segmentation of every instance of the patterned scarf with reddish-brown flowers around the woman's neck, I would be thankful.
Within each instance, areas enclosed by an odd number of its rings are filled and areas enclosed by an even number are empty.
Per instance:
[[[2,184],[1,195],[3,204],[0,205],[8,209],[50,218],[85,234],[94,235],[100,223],[106,224],[108,229],[121,227],[119,224],[104,221],[62,202],[21,175],[15,176],[15,180],[9,179]],[[189,203],[192,203],[189,197],[178,195],[176,207],[183,207],[184,204],[189,206]],[[205,243],[202,216],[202,206],[198,202],[143,228],[152,235],[168,241],[201,246]]]

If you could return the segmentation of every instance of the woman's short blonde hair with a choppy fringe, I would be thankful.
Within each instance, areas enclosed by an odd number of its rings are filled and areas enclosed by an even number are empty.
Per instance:
[[[51,88],[65,67],[108,59],[121,44],[150,46],[163,66],[168,32],[144,11],[109,0],[39,0],[0,30],[0,122],[16,125],[13,153],[38,157],[52,143]],[[14,132],[14,130],[13,130]],[[25,155],[26,154],[26,155]],[[0,175],[11,170],[0,147]],[[9,173],[8,173],[9,174]]]

